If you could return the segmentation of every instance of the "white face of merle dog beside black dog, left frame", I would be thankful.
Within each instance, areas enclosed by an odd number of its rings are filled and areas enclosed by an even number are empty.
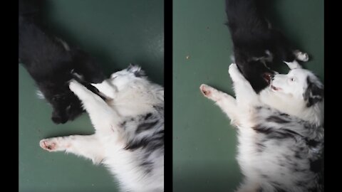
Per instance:
[[[138,78],[145,77],[145,72],[137,65],[130,65],[124,70],[120,70],[110,75],[110,82],[118,91],[127,87],[128,84],[134,82]]]

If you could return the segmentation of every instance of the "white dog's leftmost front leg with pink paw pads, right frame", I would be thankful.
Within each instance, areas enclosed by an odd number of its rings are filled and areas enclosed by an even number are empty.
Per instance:
[[[237,108],[237,102],[234,97],[204,84],[202,84],[199,89],[204,97],[213,100],[215,104],[219,106],[225,114],[227,114],[229,119],[231,119],[232,124],[237,125],[239,109]]]

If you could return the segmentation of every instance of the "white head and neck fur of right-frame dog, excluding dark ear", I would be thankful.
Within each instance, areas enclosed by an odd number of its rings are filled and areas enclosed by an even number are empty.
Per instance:
[[[296,62],[286,64],[291,68],[296,65]],[[306,107],[306,102],[304,102],[303,95],[308,86],[306,83],[308,76],[316,78],[309,70],[298,66],[292,68],[286,75],[274,75],[271,87],[263,90],[259,98],[261,102],[274,107],[276,110],[321,126],[324,118],[324,101],[318,102],[313,107]],[[274,90],[272,86],[276,87],[277,90]]]

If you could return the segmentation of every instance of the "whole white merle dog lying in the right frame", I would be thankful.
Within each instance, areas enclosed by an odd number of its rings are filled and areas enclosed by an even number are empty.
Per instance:
[[[237,191],[323,191],[323,84],[298,63],[286,63],[259,94],[229,66],[236,99],[208,85],[216,102],[238,128],[237,160],[245,178]]]

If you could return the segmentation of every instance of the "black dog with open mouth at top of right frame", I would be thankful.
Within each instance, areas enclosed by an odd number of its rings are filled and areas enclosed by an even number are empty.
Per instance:
[[[296,60],[309,59],[306,53],[292,49],[280,31],[271,28],[259,6],[259,0],[226,0],[234,63],[255,92],[269,85],[275,72],[267,66],[275,60],[296,63]]]

